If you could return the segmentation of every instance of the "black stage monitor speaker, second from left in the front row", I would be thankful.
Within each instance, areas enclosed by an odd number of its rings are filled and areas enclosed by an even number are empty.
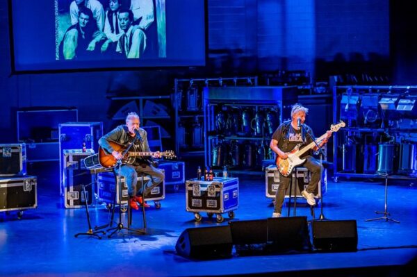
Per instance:
[[[266,245],[267,220],[229,221],[231,240],[238,255],[262,255]]]

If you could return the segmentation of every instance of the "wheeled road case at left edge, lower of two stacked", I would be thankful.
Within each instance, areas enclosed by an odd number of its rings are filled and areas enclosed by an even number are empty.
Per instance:
[[[0,178],[0,212],[17,210],[21,218],[23,211],[38,207],[37,178],[22,176]]]

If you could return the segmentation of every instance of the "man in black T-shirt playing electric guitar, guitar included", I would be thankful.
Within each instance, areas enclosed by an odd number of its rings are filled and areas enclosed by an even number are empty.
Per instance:
[[[316,205],[313,192],[316,190],[318,182],[320,181],[322,165],[310,155],[310,151],[317,151],[318,147],[314,144],[312,139],[312,137],[314,137],[313,131],[309,126],[304,124],[308,112],[308,108],[305,108],[300,104],[295,104],[291,109],[291,121],[284,121],[272,135],[270,149],[277,154],[277,167],[280,172],[279,188],[275,195],[275,209],[272,213],[272,217],[281,217],[285,192],[291,181],[291,171],[298,165],[302,165],[311,171],[309,185],[301,194],[309,205]],[[327,131],[325,135],[316,139],[316,142],[321,147],[327,143],[327,140],[329,140],[329,137],[331,136],[332,131]],[[304,149],[305,153],[303,153],[303,147],[309,147],[310,149]],[[297,154],[300,155],[298,156]],[[302,163],[303,159],[305,159],[304,163]],[[300,162],[300,164],[297,164],[297,162]]]

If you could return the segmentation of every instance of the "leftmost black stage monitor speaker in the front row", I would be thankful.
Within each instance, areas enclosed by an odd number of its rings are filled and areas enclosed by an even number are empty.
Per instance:
[[[175,250],[186,258],[230,258],[233,247],[229,226],[188,228],[178,238]]]

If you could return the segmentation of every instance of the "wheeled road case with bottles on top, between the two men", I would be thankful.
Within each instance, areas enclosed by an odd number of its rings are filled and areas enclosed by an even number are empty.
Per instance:
[[[207,212],[208,217],[216,215],[216,221],[222,222],[222,213],[227,212],[234,218],[238,208],[239,179],[214,177],[213,181],[192,179],[186,181],[186,210],[194,212],[196,221],[201,221],[199,212]]]

